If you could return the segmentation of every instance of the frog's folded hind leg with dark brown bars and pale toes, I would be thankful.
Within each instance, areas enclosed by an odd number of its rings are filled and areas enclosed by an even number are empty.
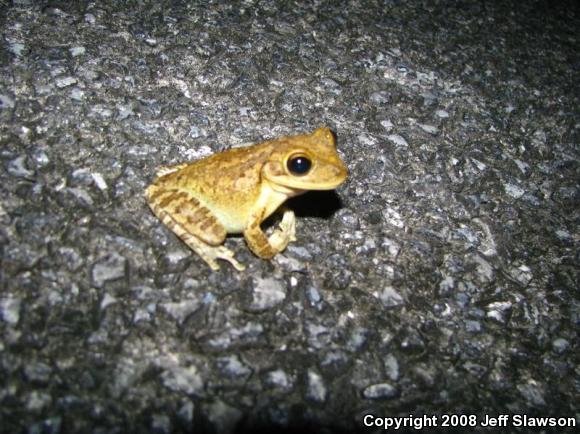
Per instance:
[[[228,261],[237,270],[245,269],[231,250],[220,245],[226,237],[223,226],[191,194],[178,189],[159,189],[153,184],[146,195],[159,220],[201,256],[212,270],[219,269],[217,259]]]

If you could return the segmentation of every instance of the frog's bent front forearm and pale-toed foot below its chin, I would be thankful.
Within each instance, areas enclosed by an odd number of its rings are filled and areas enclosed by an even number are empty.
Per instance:
[[[290,241],[296,241],[296,217],[294,211],[284,209],[280,226],[270,237],[262,231],[261,215],[254,215],[244,231],[244,238],[254,254],[263,259],[270,259],[283,251]]]

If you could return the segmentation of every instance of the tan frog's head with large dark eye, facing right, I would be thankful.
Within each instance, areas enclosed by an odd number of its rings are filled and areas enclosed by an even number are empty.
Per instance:
[[[262,176],[274,185],[292,190],[332,190],[348,175],[328,128],[272,143],[274,150],[264,164]]]

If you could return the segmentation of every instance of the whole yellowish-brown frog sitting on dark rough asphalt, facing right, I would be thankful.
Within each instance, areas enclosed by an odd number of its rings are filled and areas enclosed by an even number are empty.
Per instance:
[[[296,241],[296,216],[283,205],[286,200],[333,190],[347,176],[334,134],[321,127],[161,167],[145,198],[153,214],[212,270],[219,270],[219,259],[241,271],[245,265],[223,245],[227,235],[242,234],[257,257],[271,259]],[[276,211],[279,225],[267,235],[262,222]]]

